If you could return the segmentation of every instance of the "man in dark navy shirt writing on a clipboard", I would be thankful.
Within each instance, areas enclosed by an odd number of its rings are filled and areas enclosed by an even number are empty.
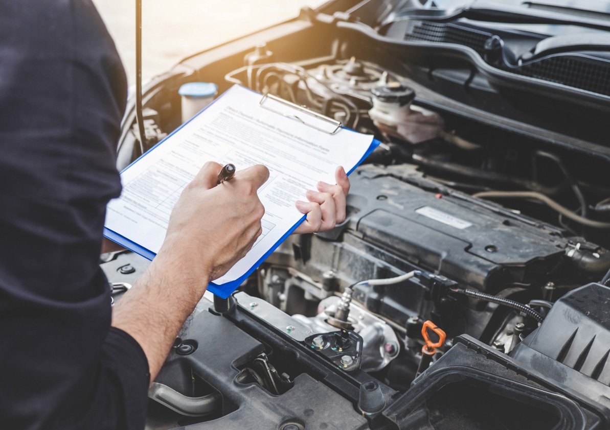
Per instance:
[[[98,258],[125,99],[90,0],[0,0],[0,428],[142,429],[182,323],[260,234],[267,169],[216,186],[220,165],[206,164],[111,315]],[[299,233],[345,218],[343,169],[337,183],[297,203]]]

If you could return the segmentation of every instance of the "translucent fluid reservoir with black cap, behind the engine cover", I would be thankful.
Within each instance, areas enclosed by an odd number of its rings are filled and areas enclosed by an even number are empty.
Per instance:
[[[443,129],[443,119],[436,112],[411,105],[415,91],[392,82],[371,90],[373,108],[368,111],[373,123],[387,136],[420,143],[436,138]]]

